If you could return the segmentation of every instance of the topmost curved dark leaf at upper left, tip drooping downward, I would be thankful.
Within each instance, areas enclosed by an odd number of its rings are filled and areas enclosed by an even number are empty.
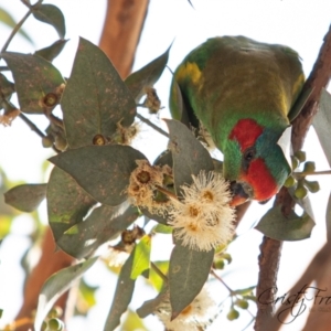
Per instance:
[[[32,14],[41,22],[51,24],[56,30],[58,36],[65,36],[65,22],[62,11],[54,4],[38,4],[32,7]]]

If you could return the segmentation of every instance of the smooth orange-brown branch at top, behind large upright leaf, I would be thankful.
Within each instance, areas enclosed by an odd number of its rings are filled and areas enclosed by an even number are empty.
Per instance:
[[[131,72],[149,0],[108,0],[99,42],[122,78]]]

